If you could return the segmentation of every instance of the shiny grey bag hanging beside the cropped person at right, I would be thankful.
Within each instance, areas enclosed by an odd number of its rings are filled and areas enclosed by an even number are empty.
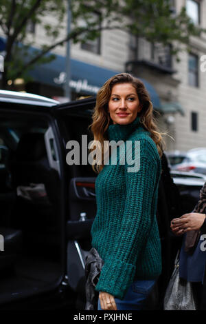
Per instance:
[[[179,253],[174,261],[174,271],[163,301],[164,310],[196,310],[192,283],[179,277]]]

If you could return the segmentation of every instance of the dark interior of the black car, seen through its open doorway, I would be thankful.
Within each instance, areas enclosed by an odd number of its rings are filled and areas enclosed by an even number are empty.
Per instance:
[[[48,130],[32,114],[1,117],[0,303],[47,290],[61,274],[60,176],[49,163]]]

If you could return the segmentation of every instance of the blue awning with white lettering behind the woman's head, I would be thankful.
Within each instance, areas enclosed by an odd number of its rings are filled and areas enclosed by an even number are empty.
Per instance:
[[[65,65],[65,57],[56,55],[54,61],[36,66],[34,70],[30,71],[30,76],[35,81],[63,87],[66,80]],[[108,70],[75,59],[71,59],[70,66],[71,81],[69,85],[71,89],[85,94],[96,94],[106,80],[120,73],[119,71]],[[145,79],[141,79],[141,81],[144,82],[150,94],[154,108],[159,108],[161,103],[155,88]]]

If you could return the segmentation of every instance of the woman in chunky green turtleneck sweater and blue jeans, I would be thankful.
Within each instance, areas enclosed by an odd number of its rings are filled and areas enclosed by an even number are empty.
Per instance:
[[[156,207],[163,144],[144,84],[127,73],[106,81],[98,92],[91,131],[95,147],[102,149],[100,159],[97,154],[93,160],[99,174],[91,228],[91,245],[104,261],[95,286],[98,310],[141,310],[161,274]],[[111,152],[104,141],[122,141],[122,146]],[[107,163],[105,152],[110,152]]]

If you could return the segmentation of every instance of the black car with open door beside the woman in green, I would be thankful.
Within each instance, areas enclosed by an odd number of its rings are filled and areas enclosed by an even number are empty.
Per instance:
[[[0,143],[7,150],[0,168],[1,310],[84,310],[97,174],[89,163],[67,163],[67,143],[81,143],[82,135],[91,141],[94,105],[95,98],[59,104],[0,90]],[[203,181],[176,182],[185,212]],[[165,223],[164,246],[166,216]]]

